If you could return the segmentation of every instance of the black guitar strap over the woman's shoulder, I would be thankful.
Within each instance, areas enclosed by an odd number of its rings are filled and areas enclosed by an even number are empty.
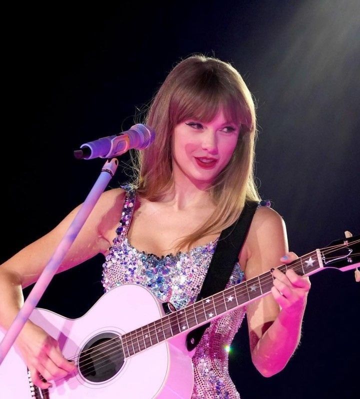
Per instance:
[[[256,201],[245,203],[239,218],[231,226],[221,231],[196,301],[225,289],[257,206],[258,202]],[[195,348],[209,325],[209,322],[203,324],[187,334],[187,350],[191,351]]]

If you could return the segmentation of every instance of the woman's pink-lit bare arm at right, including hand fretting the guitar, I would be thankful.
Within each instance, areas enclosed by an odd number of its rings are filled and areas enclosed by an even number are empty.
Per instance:
[[[280,263],[296,259],[288,252],[285,224],[270,208],[257,209],[246,239],[246,279],[252,278]],[[287,259],[282,258],[287,255]],[[272,295],[247,305],[252,362],[258,371],[269,377],[281,371],[295,351],[310,288],[308,277],[293,270],[272,272]]]

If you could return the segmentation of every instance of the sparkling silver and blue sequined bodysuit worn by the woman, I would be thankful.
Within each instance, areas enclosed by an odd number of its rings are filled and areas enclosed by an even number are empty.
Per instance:
[[[171,302],[176,309],[193,303],[200,291],[214,253],[217,238],[187,252],[158,257],[134,248],[127,239],[135,192],[126,193],[124,207],[113,246],[102,271],[105,291],[126,283],[141,284],[161,302]],[[244,274],[235,264],[227,287],[242,281]],[[239,398],[229,373],[227,345],[241,325],[245,310],[240,307],[211,321],[192,357],[194,388],[191,399]]]

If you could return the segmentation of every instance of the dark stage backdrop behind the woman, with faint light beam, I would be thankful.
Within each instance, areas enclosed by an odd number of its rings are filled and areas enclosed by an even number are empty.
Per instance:
[[[104,160],[72,151],[129,128],[175,62],[195,52],[231,62],[256,99],[259,192],[283,216],[290,249],[359,234],[359,11],[358,1],[327,0],[8,8],[2,260],[85,199]],[[110,185],[125,178],[120,166]],[[102,261],[57,274],[39,307],[81,316],[102,294]],[[236,335],[229,370],[242,399],[358,392],[360,284],[353,271],[310,279],[301,343],[283,371],[262,377],[245,322]]]

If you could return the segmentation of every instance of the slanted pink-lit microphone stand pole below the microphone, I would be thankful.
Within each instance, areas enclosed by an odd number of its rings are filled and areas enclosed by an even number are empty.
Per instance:
[[[32,310],[40,300],[43,292],[47,288],[47,285],[51,281],[51,278],[56,273],[62,259],[66,255],[72,242],[75,240],[78,232],[85,223],[88,215],[95,206],[101,193],[104,191],[111,177],[115,174],[117,165],[118,160],[116,158],[112,158],[107,159],[105,164],[102,166],[100,175],[98,176],[95,184],[88,193],[76,216],[72,220],[72,223],[66,230],[65,235],[62,237],[50,260],[46,264],[45,268],[42,270],[38,280],[31,289],[31,292],[27,296],[24,304],[22,305],[21,309],[19,310],[7,332],[5,333],[2,341],[0,342],[0,364],[5,358],[6,353],[10,350],[11,345],[20,333],[25,322],[29,318]]]

